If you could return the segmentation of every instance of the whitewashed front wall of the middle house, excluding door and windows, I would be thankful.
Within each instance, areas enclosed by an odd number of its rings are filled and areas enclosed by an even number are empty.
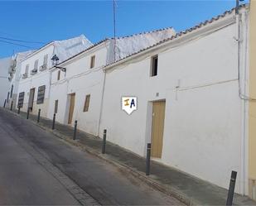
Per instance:
[[[98,136],[99,113],[104,85],[104,72],[102,66],[106,65],[109,43],[96,46],[74,60],[61,66],[66,68],[66,74],[61,72],[60,80],[57,80],[58,69],[51,74],[51,101],[48,117],[52,117],[55,101],[58,100],[58,113],[56,121],[67,124],[70,108],[70,93],[75,93],[75,108],[72,125],[78,121],[78,128]],[[90,57],[95,55],[95,65],[90,69]],[[89,111],[83,112],[85,96],[90,94]]]

